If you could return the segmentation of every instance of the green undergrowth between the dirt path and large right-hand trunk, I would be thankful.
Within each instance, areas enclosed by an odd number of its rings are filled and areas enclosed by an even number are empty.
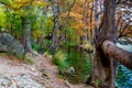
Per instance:
[[[58,66],[61,75],[73,84],[85,82],[91,74],[90,54],[84,54],[75,48],[58,51],[53,62]]]

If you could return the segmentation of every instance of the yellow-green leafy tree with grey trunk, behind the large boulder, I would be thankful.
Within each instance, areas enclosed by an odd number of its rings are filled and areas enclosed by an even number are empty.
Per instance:
[[[7,21],[1,28],[7,32],[14,35],[23,44],[25,52],[32,53],[31,36],[34,29],[33,20],[35,19],[35,12],[33,8],[48,6],[45,1],[36,0],[0,0],[2,4],[0,8],[3,10],[4,18],[2,23]],[[36,25],[36,24],[35,24]]]

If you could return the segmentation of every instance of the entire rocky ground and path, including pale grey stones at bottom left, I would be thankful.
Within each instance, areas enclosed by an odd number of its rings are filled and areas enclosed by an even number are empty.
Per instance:
[[[0,56],[0,88],[92,88],[62,79],[52,58],[37,55],[34,65],[10,56]]]

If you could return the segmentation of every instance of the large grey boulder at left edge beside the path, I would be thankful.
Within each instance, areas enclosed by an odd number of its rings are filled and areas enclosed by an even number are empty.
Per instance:
[[[24,55],[23,45],[8,33],[0,33],[0,52],[6,52],[16,56]]]

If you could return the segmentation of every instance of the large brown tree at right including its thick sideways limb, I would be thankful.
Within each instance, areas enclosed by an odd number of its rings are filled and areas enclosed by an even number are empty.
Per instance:
[[[132,68],[132,54],[116,46],[116,0],[105,0],[101,28],[96,37],[92,82],[103,88],[114,88],[116,61]]]

